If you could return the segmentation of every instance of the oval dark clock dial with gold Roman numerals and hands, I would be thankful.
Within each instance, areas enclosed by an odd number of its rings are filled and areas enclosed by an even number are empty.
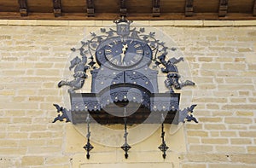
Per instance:
[[[140,62],[151,60],[152,51],[148,43],[139,38],[114,37],[102,42],[96,49],[98,63],[107,67],[133,67]]]

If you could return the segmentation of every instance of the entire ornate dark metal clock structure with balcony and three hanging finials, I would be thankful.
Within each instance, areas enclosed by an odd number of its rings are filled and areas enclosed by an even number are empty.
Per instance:
[[[88,16],[94,15],[94,1],[86,2]],[[154,16],[159,16],[160,1],[153,2]],[[193,1],[187,2],[190,7]],[[196,105],[181,110],[181,94],[175,92],[195,83],[181,80],[177,63],[184,59],[178,49],[167,47],[166,42],[156,38],[155,32],[130,26],[132,21],[125,19],[125,0],[120,0],[120,14],[122,18],[113,21],[115,29],[101,28],[99,34],[90,32],[90,37],[83,39],[79,47],[71,49],[73,58],[69,70],[73,71],[73,79],[61,80],[57,84],[60,88],[68,87],[71,109],[54,104],[58,116],[53,122],[87,124],[87,143],[84,146],[87,159],[94,148],[90,144],[90,117],[99,125],[124,124],[125,143],[120,148],[125,151],[125,159],[131,149],[127,142],[127,125],[159,124],[162,142],[159,149],[166,159],[169,147],[165,141],[164,124],[198,122],[193,115]],[[170,58],[169,54],[176,56]],[[166,74],[163,82],[168,91],[165,93],[159,92],[159,72]],[[84,93],[88,85],[90,92]]]

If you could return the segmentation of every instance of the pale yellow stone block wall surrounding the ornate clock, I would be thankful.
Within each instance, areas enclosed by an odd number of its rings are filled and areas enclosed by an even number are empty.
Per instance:
[[[182,49],[196,84],[199,124],[173,135],[166,126],[166,159],[157,149],[159,129],[135,144],[129,159],[120,148],[91,142],[87,160],[83,134],[72,124],[51,123],[52,104],[63,102],[57,83],[70,49],[109,23],[0,20],[0,167],[255,167],[255,21],[143,21]]]

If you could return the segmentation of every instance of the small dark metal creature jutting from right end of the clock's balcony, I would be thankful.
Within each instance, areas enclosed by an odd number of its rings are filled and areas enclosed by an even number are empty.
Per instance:
[[[196,104],[191,105],[190,107],[184,108],[182,111],[178,110],[179,117],[178,122],[185,122],[185,121],[195,121],[195,123],[198,123],[197,119],[193,116],[193,110],[196,107]]]

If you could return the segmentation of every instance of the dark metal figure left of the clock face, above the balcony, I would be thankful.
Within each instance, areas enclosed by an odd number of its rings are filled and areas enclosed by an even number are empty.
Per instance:
[[[71,88],[68,90],[69,93],[73,93],[74,90],[79,90],[84,85],[84,80],[87,78],[86,70],[90,68],[90,66],[86,66],[87,57],[85,55],[82,56],[82,60],[77,56],[72,61],[70,61],[69,70],[74,67],[74,79],[72,81],[61,80],[58,84],[60,88],[63,85],[68,85]]]

